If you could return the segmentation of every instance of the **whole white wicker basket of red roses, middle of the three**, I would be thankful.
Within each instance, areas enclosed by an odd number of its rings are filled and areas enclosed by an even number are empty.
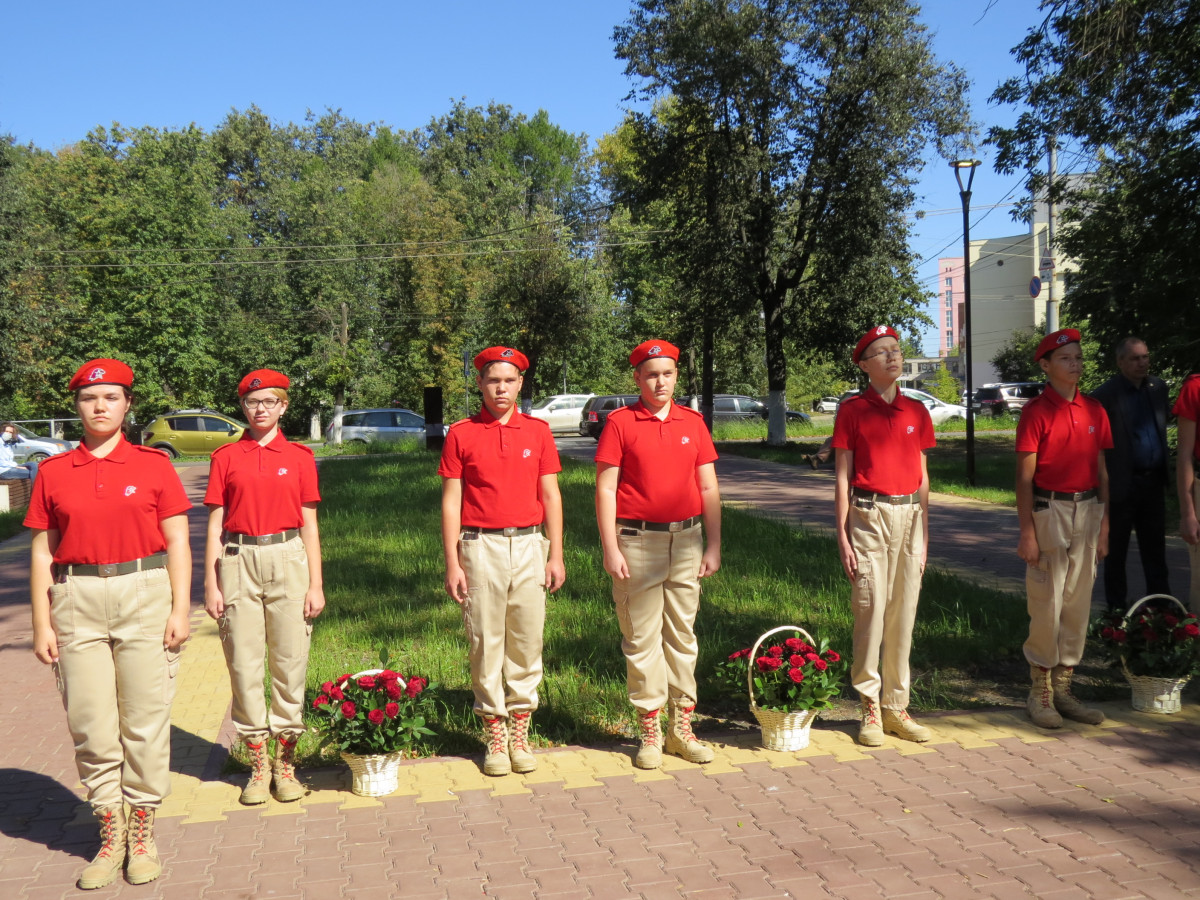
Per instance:
[[[791,631],[778,644],[758,648],[772,635]],[[746,660],[750,712],[762,728],[762,745],[768,750],[803,750],[809,745],[812,721],[822,709],[833,707],[841,691],[846,662],[841,654],[820,644],[803,628],[780,625],[755,641],[754,648],[738,650]]]

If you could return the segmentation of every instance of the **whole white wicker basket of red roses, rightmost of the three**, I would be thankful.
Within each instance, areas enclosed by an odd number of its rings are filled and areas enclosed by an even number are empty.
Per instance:
[[[1151,594],[1122,613],[1092,623],[1133,688],[1133,708],[1170,715],[1183,708],[1183,686],[1198,668],[1200,622],[1168,594]]]

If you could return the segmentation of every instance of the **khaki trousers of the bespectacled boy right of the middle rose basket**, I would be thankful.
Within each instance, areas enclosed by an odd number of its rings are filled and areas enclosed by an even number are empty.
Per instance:
[[[920,505],[851,499],[850,541],[858,557],[858,577],[850,592],[854,612],[851,684],[863,700],[905,709],[925,547]]]

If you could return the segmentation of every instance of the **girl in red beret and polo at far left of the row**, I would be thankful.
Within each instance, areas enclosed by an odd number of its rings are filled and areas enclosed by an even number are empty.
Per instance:
[[[70,390],[83,440],[42,463],[25,516],[34,654],[54,666],[100,820],[85,890],[122,866],[132,884],[162,874],[154,817],[170,792],[170,703],[190,628],[192,504],[164,452],[121,434],[132,388],[120,360],[79,367]]]

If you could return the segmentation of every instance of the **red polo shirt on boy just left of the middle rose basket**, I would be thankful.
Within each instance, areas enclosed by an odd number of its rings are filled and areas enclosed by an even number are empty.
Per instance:
[[[596,462],[620,468],[617,516],[679,522],[703,510],[696,469],[716,462],[704,418],[672,403],[659,419],[638,401],[608,415]]]

